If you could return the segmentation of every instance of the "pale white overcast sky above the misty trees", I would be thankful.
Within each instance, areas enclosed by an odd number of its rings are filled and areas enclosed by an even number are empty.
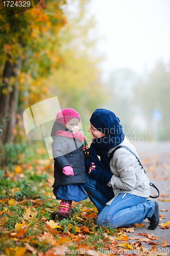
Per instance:
[[[170,60],[169,0],[91,0],[100,36],[98,51],[106,56],[105,77],[116,68],[138,72],[153,69],[162,58]]]

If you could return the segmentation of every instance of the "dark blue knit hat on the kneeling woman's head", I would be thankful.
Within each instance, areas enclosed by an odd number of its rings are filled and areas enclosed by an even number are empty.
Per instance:
[[[90,118],[90,123],[106,135],[122,132],[122,125],[119,122],[119,118],[112,111],[106,109],[96,109]]]

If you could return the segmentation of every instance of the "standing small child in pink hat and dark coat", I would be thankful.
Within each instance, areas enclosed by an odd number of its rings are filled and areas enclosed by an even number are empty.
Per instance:
[[[57,212],[60,219],[70,217],[72,201],[87,199],[83,184],[85,163],[83,150],[88,148],[87,141],[79,132],[81,119],[74,109],[63,109],[57,113],[51,136],[54,158],[53,193],[61,199]]]

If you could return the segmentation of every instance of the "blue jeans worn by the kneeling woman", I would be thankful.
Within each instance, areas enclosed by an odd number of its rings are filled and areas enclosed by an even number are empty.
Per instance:
[[[86,173],[84,188],[100,213],[96,219],[96,224],[99,226],[110,225],[112,228],[129,226],[134,223],[141,223],[146,218],[151,218],[154,213],[155,204],[153,201],[147,201],[147,198],[132,194],[121,193],[115,197],[110,205],[106,205],[111,198],[107,198],[102,191],[96,190],[96,180],[91,179],[88,173]]]

